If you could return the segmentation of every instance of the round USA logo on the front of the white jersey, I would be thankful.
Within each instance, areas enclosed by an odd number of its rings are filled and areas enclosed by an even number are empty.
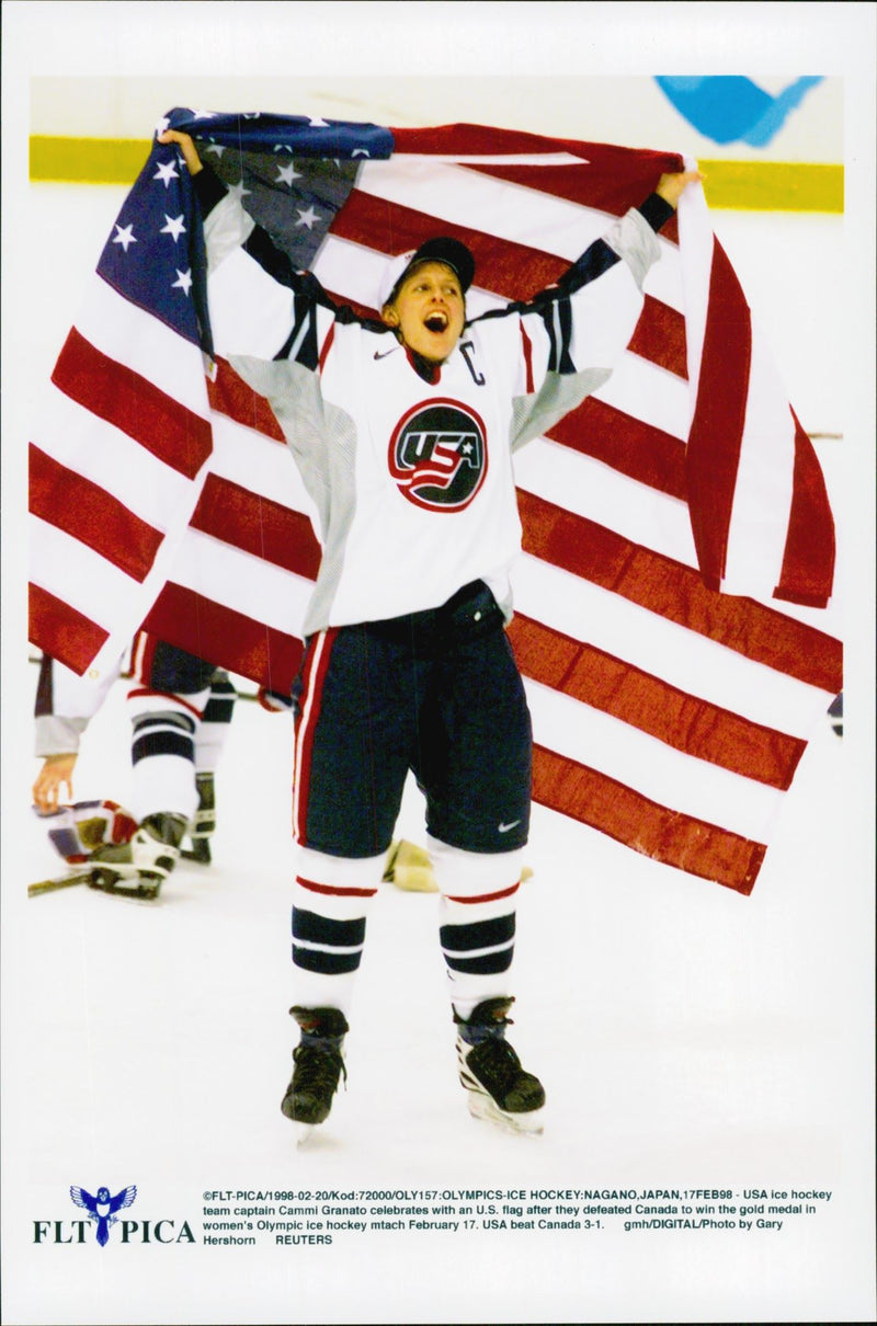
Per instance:
[[[395,426],[390,473],[399,492],[427,511],[462,511],[487,473],[487,430],[459,400],[427,400]]]

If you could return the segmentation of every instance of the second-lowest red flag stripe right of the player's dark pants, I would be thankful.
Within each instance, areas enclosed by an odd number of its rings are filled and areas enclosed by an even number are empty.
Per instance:
[[[785,790],[807,743],[751,723],[592,644],[515,614],[508,635],[525,676],[647,732],[685,754]]]

